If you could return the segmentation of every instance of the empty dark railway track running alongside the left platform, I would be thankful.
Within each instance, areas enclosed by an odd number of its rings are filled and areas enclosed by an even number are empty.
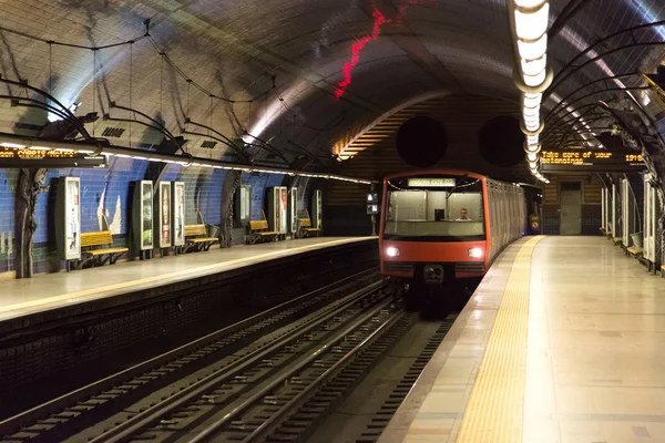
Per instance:
[[[367,309],[367,303],[376,301],[374,299],[381,286],[377,281],[376,270],[369,270],[298,297],[7,419],[0,422],[0,442],[52,442],[72,436],[74,441],[81,441],[82,430],[95,432],[99,427],[95,423],[104,423],[109,418],[120,416],[124,423],[119,424],[135,423],[143,420],[151,408],[177,404],[177,399],[184,398],[207,379],[247,370],[250,374],[254,367],[270,367],[274,360],[266,356],[273,354],[272,358],[276,359],[277,344],[293,347],[288,343],[298,340],[298,337],[310,339],[310,331],[317,328],[325,330],[330,321],[340,323],[352,312]],[[364,289],[355,290],[358,287]],[[351,290],[355,291],[349,295]],[[283,351],[287,350],[284,348]],[[202,375],[202,372],[207,373]],[[192,377],[198,380],[192,381]],[[248,375],[238,377],[234,378],[235,382]],[[183,382],[186,384],[183,385]],[[170,387],[178,384],[178,392],[164,393]],[[155,401],[158,394],[163,396]],[[143,411],[127,409],[142,401],[149,402]],[[112,439],[117,432],[114,430],[119,429],[119,425],[113,425],[109,432],[101,432],[98,436],[86,435],[84,440],[113,441],[103,439]]]

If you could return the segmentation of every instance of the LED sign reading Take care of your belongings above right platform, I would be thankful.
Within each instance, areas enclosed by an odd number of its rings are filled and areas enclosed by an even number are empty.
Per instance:
[[[543,173],[640,172],[646,168],[642,155],[625,151],[557,150],[541,152]]]

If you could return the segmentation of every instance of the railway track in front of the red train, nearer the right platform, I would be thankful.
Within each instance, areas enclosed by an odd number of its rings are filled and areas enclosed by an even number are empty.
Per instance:
[[[352,307],[248,354],[95,437],[82,436],[93,443],[293,441],[416,318],[377,287],[361,292]]]

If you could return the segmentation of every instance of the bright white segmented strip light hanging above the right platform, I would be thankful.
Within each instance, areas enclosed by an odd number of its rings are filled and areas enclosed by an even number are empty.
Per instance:
[[[540,173],[540,133],[543,91],[552,83],[548,69],[548,0],[509,0],[509,20],[514,40],[515,84],[522,91],[522,132],[526,135],[524,151],[529,171],[541,182],[550,181]]]

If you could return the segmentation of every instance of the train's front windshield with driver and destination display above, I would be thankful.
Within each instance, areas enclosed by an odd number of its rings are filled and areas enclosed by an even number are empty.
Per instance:
[[[467,176],[388,182],[383,238],[406,241],[485,239],[482,182]]]

